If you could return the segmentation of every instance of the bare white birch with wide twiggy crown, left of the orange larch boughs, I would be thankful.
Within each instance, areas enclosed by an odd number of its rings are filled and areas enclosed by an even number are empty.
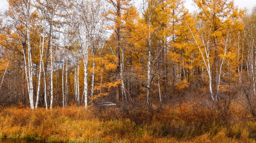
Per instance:
[[[101,22],[100,17],[102,1],[94,0],[81,0],[77,3],[77,11],[79,15],[79,43],[81,47],[81,51],[83,54],[83,64],[84,64],[84,88],[83,88],[83,97],[85,97],[85,107],[88,106],[88,66],[89,66],[89,48],[93,49],[93,55],[95,54],[95,46],[94,42],[96,41],[98,27],[102,26],[99,23]],[[94,55],[95,56],[95,55]],[[95,66],[95,62],[93,62]],[[94,74],[93,74],[93,82],[91,85],[91,89],[93,91],[94,87]],[[93,93],[91,94],[93,96]]]

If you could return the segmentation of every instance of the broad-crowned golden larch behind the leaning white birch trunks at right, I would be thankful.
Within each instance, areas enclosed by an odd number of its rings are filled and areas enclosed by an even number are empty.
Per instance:
[[[220,50],[225,50],[226,47],[224,46],[224,49],[220,49],[221,44],[226,45],[225,41],[221,41],[221,39],[228,33],[226,29],[228,29],[230,25],[235,25],[235,22],[238,20],[238,17],[242,15],[243,11],[238,11],[238,8],[234,6],[232,0],[194,0],[194,2],[200,10],[198,18],[202,20],[205,28],[207,28],[204,30],[204,35],[207,35],[207,37],[204,36],[205,38],[203,39],[205,49],[207,49],[207,53],[211,49],[214,49],[215,89],[218,93],[224,61],[224,57],[222,59],[220,58],[219,52]],[[208,63],[207,65],[207,69],[210,70],[210,65]],[[210,76],[210,71],[208,74]],[[210,80],[212,79],[209,79],[209,81]],[[215,98],[217,100],[217,97]]]

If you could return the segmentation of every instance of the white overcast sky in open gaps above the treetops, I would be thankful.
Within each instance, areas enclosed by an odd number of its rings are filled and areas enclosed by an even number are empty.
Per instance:
[[[136,5],[139,5],[142,0],[134,0],[136,2]],[[248,10],[251,10],[254,6],[256,6],[256,0],[234,0],[235,5],[239,8],[248,8]],[[0,0],[0,10],[6,10],[8,7],[7,0]],[[185,7],[189,9],[189,12],[193,12],[195,10],[195,7],[193,6],[192,0],[186,0]]]

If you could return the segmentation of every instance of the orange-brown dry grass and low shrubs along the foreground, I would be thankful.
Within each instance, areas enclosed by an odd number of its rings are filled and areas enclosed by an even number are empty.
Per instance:
[[[256,120],[236,105],[225,116],[194,105],[152,111],[69,106],[0,108],[0,138],[49,143],[256,143]]]

